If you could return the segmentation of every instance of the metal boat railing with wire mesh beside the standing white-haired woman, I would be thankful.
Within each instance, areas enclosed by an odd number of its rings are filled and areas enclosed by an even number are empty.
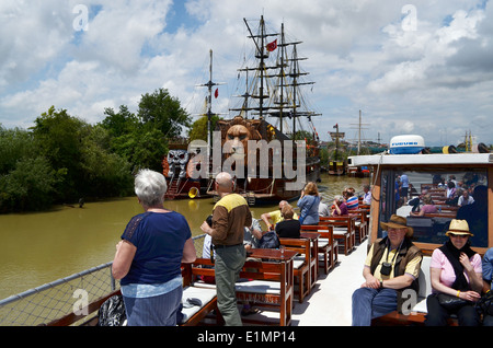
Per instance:
[[[205,234],[193,237],[202,257]],[[0,300],[0,326],[39,326],[83,309],[119,289],[112,276],[113,262]],[[98,315],[95,312],[93,315]],[[81,325],[89,317],[73,325]]]

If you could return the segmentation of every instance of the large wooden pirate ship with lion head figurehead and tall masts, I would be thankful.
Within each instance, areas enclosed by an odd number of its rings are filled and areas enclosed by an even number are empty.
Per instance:
[[[297,50],[300,42],[286,40],[284,24],[280,33],[267,32],[261,16],[254,33],[249,21],[243,21],[253,43],[252,59],[245,59],[239,69],[238,85],[242,94],[239,105],[230,108],[233,117],[216,125],[216,131],[221,135],[221,149],[229,149],[221,153],[222,163],[231,164],[236,193],[244,196],[250,205],[291,200],[299,196],[307,182],[320,181],[319,136],[312,123],[312,117],[320,114],[311,111],[302,93],[313,82],[305,81],[308,73],[299,65],[305,58]],[[255,143],[265,140],[275,146],[267,152],[260,149],[254,152],[249,149],[252,143],[249,140]],[[253,165],[252,153],[255,153]],[[291,163],[287,163],[289,159]],[[238,169],[238,163],[249,165]],[[277,171],[279,163],[282,171]],[[285,171],[291,164],[296,177]],[[213,178],[219,170],[211,167]],[[216,195],[214,185],[209,187],[207,193]]]

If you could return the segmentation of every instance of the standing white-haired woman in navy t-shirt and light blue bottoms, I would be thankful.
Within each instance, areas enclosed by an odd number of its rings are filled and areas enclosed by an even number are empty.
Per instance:
[[[164,209],[162,174],[141,170],[135,193],[144,213],[130,219],[116,245],[112,272],[121,279],[128,326],[175,326],[182,300],[181,264],[196,258],[185,218]]]

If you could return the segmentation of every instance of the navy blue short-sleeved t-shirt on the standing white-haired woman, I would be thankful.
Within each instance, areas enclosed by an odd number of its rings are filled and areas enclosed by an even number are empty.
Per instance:
[[[121,285],[164,283],[181,277],[183,247],[191,236],[185,218],[175,211],[145,212],[131,218],[122,239],[137,251]]]

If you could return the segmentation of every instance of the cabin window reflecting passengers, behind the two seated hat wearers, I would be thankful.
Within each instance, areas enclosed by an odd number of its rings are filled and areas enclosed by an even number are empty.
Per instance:
[[[409,185],[408,185],[409,183]],[[405,217],[414,241],[443,244],[451,219],[468,221],[471,245],[488,247],[488,175],[483,169],[463,171],[386,170],[381,176],[379,221],[392,213]],[[379,225],[378,236],[385,236]]]

